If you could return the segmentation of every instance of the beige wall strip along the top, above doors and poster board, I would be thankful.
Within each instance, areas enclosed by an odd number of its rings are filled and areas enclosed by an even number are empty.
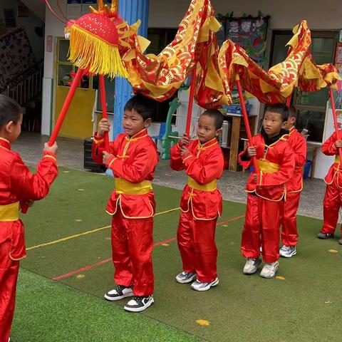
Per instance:
[[[234,11],[234,16],[242,13],[257,16],[271,16],[272,28],[292,28],[302,19],[306,19],[311,29],[342,28],[341,0],[211,0],[215,13],[227,14]],[[177,27],[190,5],[190,0],[150,0],[150,27]]]

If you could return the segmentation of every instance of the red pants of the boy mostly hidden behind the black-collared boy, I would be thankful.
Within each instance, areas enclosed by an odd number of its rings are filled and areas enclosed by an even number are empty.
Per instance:
[[[286,194],[286,201],[284,204],[284,213],[281,240],[285,246],[296,246],[298,242],[297,231],[297,209],[299,207],[299,199],[301,199],[301,192],[288,192]]]

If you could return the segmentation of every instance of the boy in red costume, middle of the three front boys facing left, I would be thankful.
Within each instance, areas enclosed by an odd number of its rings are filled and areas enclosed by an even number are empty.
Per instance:
[[[176,276],[179,283],[190,283],[196,291],[207,291],[219,284],[215,228],[222,213],[222,195],[217,180],[222,176],[224,158],[217,138],[222,130],[223,115],[219,110],[206,110],[199,117],[198,139],[182,138],[172,146],[170,165],[185,170],[188,182],[182,192],[177,243],[183,271]]]

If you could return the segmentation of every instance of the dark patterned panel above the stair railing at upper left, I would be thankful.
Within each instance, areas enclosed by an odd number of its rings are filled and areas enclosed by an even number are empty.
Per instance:
[[[24,27],[0,38],[0,92],[18,84],[36,63]]]

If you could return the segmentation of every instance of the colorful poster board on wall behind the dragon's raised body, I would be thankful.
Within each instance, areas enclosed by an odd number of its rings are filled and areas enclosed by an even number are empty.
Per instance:
[[[264,66],[268,19],[227,18],[226,22],[226,39],[239,44],[260,66]]]

